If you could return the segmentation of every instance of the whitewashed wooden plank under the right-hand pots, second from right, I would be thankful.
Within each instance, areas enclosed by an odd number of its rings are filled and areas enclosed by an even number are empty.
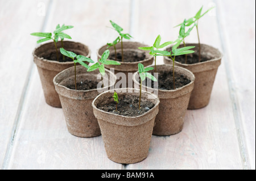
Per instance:
[[[212,1],[139,1],[137,36],[154,43],[160,33],[164,41],[175,40],[173,28]],[[142,23],[143,22],[143,23]],[[221,50],[216,16],[206,15],[199,24],[201,43]],[[147,31],[150,30],[150,31]],[[197,42],[195,32],[186,40]],[[189,110],[183,131],[167,137],[153,136],[150,153],[144,161],[126,169],[243,169],[225,64],[218,69],[210,103],[200,110]]]

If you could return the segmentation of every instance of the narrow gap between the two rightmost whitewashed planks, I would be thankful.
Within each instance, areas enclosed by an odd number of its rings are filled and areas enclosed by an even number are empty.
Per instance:
[[[217,18],[217,25],[218,25],[218,32],[220,35],[220,41],[221,41],[221,48],[223,50],[223,54],[225,56],[222,58],[224,65],[225,65],[225,70],[226,70],[226,78],[228,80],[228,87],[229,87],[229,94],[230,94],[230,100],[232,102],[232,110],[233,110],[233,116],[234,116],[234,123],[236,125],[236,132],[237,132],[237,139],[238,139],[238,144],[240,148],[240,155],[242,159],[242,167],[245,170],[250,170],[250,162],[249,162],[249,156],[247,153],[247,147],[246,147],[246,142],[245,142],[245,134],[244,134],[244,129],[241,124],[242,118],[241,118],[241,110],[239,108],[239,101],[237,99],[237,92],[235,89],[235,86],[233,85],[232,80],[234,79],[232,70],[230,69],[230,57],[229,53],[226,52],[226,47],[228,46],[225,42],[225,35],[221,30],[224,30],[224,28],[221,26],[220,21],[222,18],[220,17],[220,12],[218,11],[218,7],[220,6],[217,0],[214,0],[215,4],[217,5],[216,8],[216,18]],[[225,22],[224,22],[225,23]]]

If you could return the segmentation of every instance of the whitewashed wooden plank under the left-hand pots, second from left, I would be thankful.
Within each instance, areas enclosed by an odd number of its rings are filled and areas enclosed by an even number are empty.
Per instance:
[[[129,30],[129,6],[128,0],[53,1],[46,31],[58,23],[75,26],[67,33],[89,45],[95,60],[96,49],[117,36],[106,28],[110,19]],[[108,159],[101,136],[78,138],[68,133],[63,111],[44,102],[34,69],[8,169],[122,169],[122,165]]]

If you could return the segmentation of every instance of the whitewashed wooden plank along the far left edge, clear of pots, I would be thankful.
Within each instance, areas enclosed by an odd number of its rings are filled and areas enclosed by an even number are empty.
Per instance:
[[[5,163],[12,146],[13,133],[19,123],[19,113],[32,65],[32,50],[36,45],[30,37],[40,31],[45,16],[42,5],[47,1],[0,1],[0,166]],[[33,16],[32,16],[33,15]]]

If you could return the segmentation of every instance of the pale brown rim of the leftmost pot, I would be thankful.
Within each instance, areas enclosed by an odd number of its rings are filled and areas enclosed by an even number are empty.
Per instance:
[[[59,43],[60,41],[58,41],[57,43]],[[75,43],[75,44],[81,44],[81,45],[84,45],[87,49],[88,49],[88,54],[85,56],[85,57],[90,57],[90,54],[91,54],[91,50],[89,49],[88,45],[85,45],[85,44],[82,44],[80,42],[76,42],[76,41],[63,41],[63,43]],[[44,44],[41,44],[39,45],[39,47],[36,47],[33,52],[32,52],[32,56],[35,57],[35,58],[38,58],[38,60],[40,61],[43,61],[43,62],[50,62],[52,64],[59,64],[59,65],[69,65],[69,64],[74,64],[74,62],[59,62],[59,61],[56,61],[56,60],[48,60],[48,59],[45,59],[43,57],[38,57],[36,54],[35,54],[35,51],[38,50],[39,48],[42,48],[43,46],[46,46],[48,44],[53,44],[53,42],[48,42],[48,43],[44,43]]]

